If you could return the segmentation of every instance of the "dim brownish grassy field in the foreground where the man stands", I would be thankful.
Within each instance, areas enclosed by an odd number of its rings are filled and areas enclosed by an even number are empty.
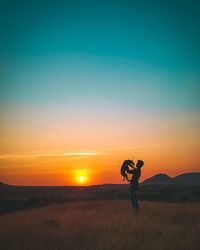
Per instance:
[[[200,204],[82,201],[0,216],[2,250],[198,250]]]

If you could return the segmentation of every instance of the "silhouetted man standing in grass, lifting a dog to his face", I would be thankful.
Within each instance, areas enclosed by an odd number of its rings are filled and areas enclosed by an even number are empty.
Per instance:
[[[131,191],[131,203],[133,208],[135,209],[136,212],[139,212],[139,204],[138,204],[138,199],[137,199],[137,191],[139,188],[139,179],[141,175],[141,168],[143,167],[144,162],[141,160],[138,160],[136,164],[136,168],[133,170],[130,170],[129,168],[127,169],[128,174],[132,174],[132,178],[130,181],[130,191]]]

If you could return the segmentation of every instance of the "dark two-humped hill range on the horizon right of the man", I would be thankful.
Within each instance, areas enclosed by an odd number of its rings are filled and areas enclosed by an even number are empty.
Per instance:
[[[172,178],[167,174],[154,175],[141,183],[142,185],[190,185],[200,186],[200,172],[186,173]]]

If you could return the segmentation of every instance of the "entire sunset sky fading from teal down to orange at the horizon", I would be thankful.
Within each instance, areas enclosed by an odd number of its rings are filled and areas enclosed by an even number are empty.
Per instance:
[[[200,171],[198,1],[1,1],[0,180]]]

